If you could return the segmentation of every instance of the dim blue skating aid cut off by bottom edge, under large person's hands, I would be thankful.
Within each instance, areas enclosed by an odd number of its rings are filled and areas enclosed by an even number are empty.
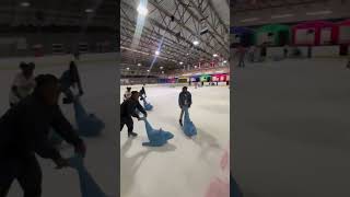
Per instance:
[[[75,169],[78,172],[82,197],[107,197],[88,172],[82,157],[74,155],[69,159],[69,162],[71,167]]]

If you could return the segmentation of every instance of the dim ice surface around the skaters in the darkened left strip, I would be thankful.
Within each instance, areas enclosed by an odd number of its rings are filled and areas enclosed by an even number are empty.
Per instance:
[[[12,65],[1,62],[0,68],[0,113],[1,115],[9,106],[9,91],[14,78],[19,71],[20,60],[13,61]],[[54,73],[60,76],[67,68],[69,61],[62,65],[37,65],[35,74]],[[12,67],[12,68],[11,68]],[[118,147],[116,143],[118,130],[116,130],[116,73],[115,61],[94,61],[78,62],[78,69],[82,80],[85,95],[82,97],[82,104],[88,112],[103,119],[105,129],[101,137],[84,138],[86,143],[85,165],[95,182],[103,192],[109,196],[117,194],[117,154]],[[61,100],[60,100],[61,103]],[[73,106],[63,105],[62,111],[72,124],[75,124],[73,116]],[[62,153],[70,155],[71,149],[63,147]],[[39,159],[43,166],[43,196],[44,197],[79,197],[80,186],[77,171],[72,169],[55,170],[55,164],[50,160]],[[9,197],[22,196],[18,183],[13,183]]]

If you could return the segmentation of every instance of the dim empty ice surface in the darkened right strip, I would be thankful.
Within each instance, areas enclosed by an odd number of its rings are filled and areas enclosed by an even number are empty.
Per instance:
[[[231,161],[244,196],[350,196],[346,59],[247,63],[234,71]]]

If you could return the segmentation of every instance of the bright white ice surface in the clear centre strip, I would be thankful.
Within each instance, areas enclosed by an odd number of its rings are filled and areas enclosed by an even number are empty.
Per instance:
[[[133,139],[127,138],[124,128],[121,197],[205,197],[210,182],[222,174],[220,161],[230,146],[230,90],[226,85],[189,86],[192,94],[189,116],[198,130],[195,139],[186,137],[178,124],[180,90],[182,86],[168,84],[145,85],[147,101],[153,105],[148,113],[150,124],[175,137],[164,147],[142,147],[148,141],[144,123],[133,119],[135,131],[139,134]],[[125,91],[126,86],[121,86],[120,101]],[[229,178],[229,174],[223,176]]]

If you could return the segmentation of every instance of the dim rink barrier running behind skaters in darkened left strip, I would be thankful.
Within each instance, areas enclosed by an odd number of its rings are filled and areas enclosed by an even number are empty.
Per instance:
[[[117,62],[118,53],[106,54],[82,54],[77,62],[83,63],[98,63],[98,62]],[[0,70],[15,70],[19,69],[21,61],[35,62],[36,69],[51,68],[51,67],[68,67],[69,62],[73,60],[72,55],[54,55],[44,57],[18,57],[18,58],[0,58]]]

